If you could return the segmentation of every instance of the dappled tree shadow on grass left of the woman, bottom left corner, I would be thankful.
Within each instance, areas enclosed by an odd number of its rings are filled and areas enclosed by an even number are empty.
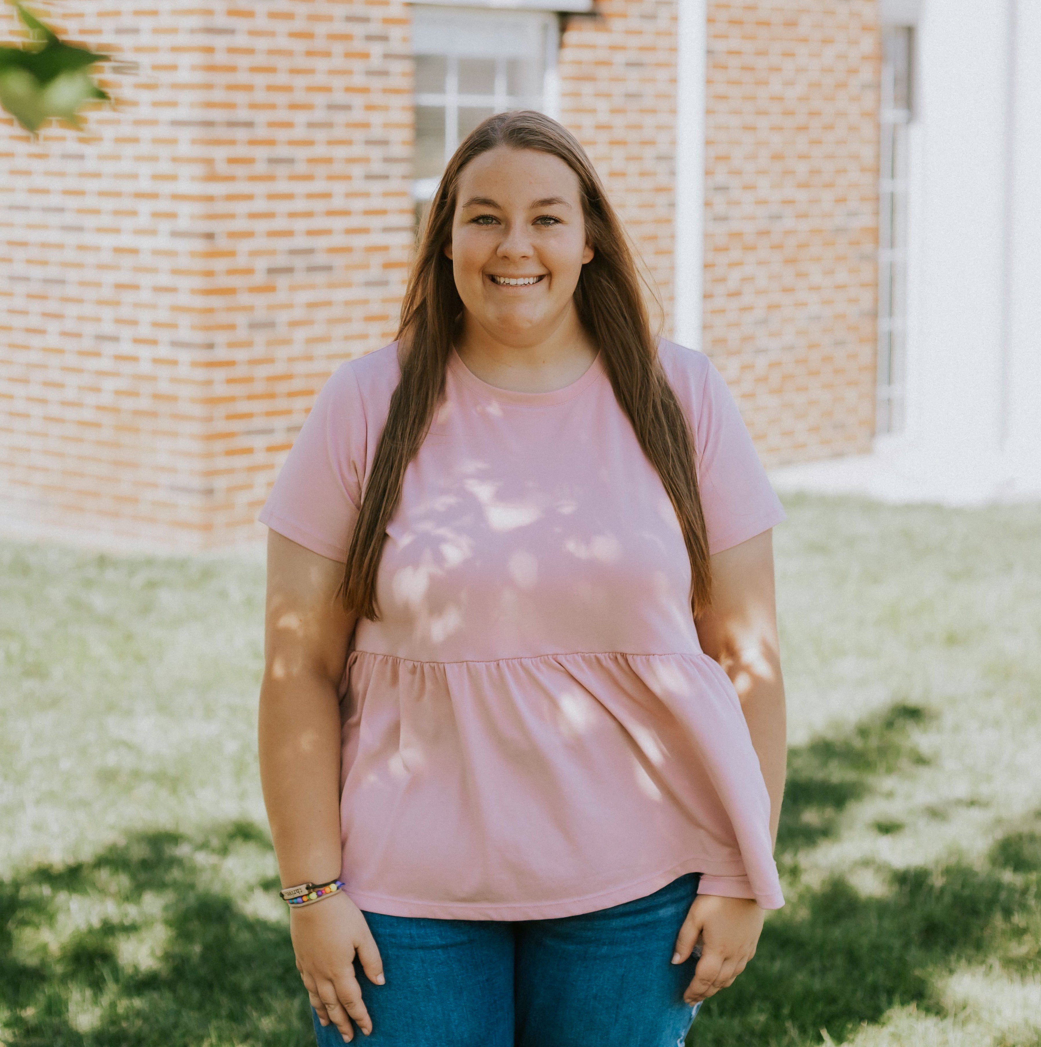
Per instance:
[[[0,885],[0,1040],[313,1047],[287,923],[247,915],[220,874],[229,856],[266,871],[269,851],[251,823],[202,840],[146,832]],[[239,885],[278,886],[263,874]]]

